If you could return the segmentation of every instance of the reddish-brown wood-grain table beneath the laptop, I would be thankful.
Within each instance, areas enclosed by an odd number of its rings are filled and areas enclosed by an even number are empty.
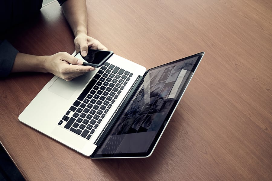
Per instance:
[[[271,180],[271,1],[92,0],[87,9],[89,35],[146,68],[206,54],[144,159],[92,160],[20,123],[18,115],[53,75],[1,79],[0,141],[25,179]],[[20,52],[74,51],[57,2],[12,33]]]

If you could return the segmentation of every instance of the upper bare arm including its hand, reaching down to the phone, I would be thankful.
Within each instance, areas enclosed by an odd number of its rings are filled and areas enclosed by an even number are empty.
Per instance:
[[[87,34],[87,8],[85,0],[67,0],[61,7],[75,35],[74,43],[76,52],[81,51],[81,54],[86,56],[88,47],[108,50],[102,43],[89,37]]]

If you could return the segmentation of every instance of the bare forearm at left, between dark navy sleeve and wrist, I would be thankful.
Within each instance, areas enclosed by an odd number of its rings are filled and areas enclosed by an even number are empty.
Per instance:
[[[36,72],[47,72],[44,68],[46,56],[34,56],[24,53],[18,53],[11,72],[25,72],[25,71],[36,71]]]

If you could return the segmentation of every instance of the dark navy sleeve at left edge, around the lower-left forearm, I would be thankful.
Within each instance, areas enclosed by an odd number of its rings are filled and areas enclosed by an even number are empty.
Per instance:
[[[11,72],[17,53],[7,40],[0,40],[0,77],[7,77]]]

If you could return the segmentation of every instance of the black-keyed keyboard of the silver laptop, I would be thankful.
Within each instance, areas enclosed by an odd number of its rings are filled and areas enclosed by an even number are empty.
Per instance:
[[[104,63],[58,125],[64,123],[64,128],[89,140],[132,75]]]

